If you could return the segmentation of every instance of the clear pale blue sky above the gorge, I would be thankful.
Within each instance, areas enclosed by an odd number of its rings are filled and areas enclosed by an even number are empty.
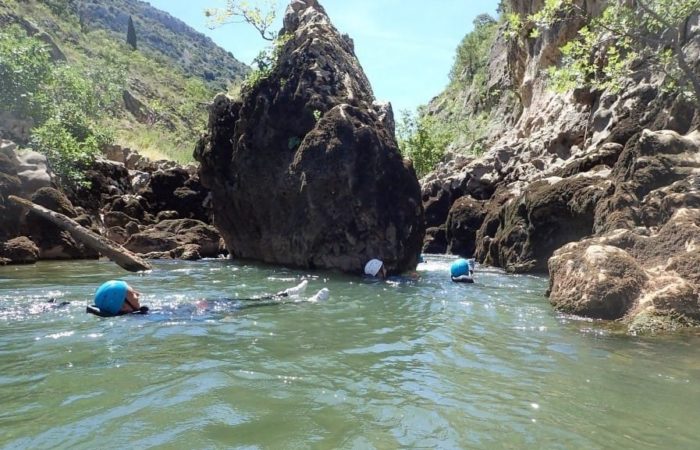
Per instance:
[[[223,0],[147,0],[210,36],[240,61],[251,64],[268,42],[250,25],[206,27],[204,8]],[[355,54],[378,100],[394,113],[415,110],[447,85],[455,50],[481,13],[496,17],[498,0],[320,0],[341,33],[355,41]],[[251,1],[252,3],[252,1]],[[277,0],[278,21],[288,1]],[[277,26],[274,29],[278,30]]]

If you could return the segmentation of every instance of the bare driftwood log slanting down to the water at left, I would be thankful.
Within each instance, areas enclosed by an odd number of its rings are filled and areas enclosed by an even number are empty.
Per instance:
[[[14,195],[8,196],[8,199],[13,203],[29,208],[30,211],[50,220],[60,228],[70,232],[70,234],[73,235],[76,240],[82,242],[93,250],[102,253],[104,256],[117,263],[120,267],[130,272],[151,270],[150,264],[136,256],[134,253],[125,249],[116,242],[88,230],[70,217],[66,217],[65,215],[55,211],[51,211],[50,209],[44,208],[43,206],[37,205],[29,200],[15,197]]]

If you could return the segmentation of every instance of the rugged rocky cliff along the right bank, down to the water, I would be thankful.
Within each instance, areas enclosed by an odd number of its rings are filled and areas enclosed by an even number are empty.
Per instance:
[[[595,16],[606,2],[576,3]],[[543,4],[509,2],[521,15]],[[454,158],[422,180],[426,248],[548,271],[555,307],[631,329],[644,328],[642,316],[700,319],[690,269],[700,264],[700,114],[644,64],[619,93],[553,92],[543,71],[580,26],[572,18],[521,42],[498,38],[489,86],[515,93],[494,105],[510,114],[492,122],[483,157]],[[685,33],[696,72],[698,31],[695,14]]]

